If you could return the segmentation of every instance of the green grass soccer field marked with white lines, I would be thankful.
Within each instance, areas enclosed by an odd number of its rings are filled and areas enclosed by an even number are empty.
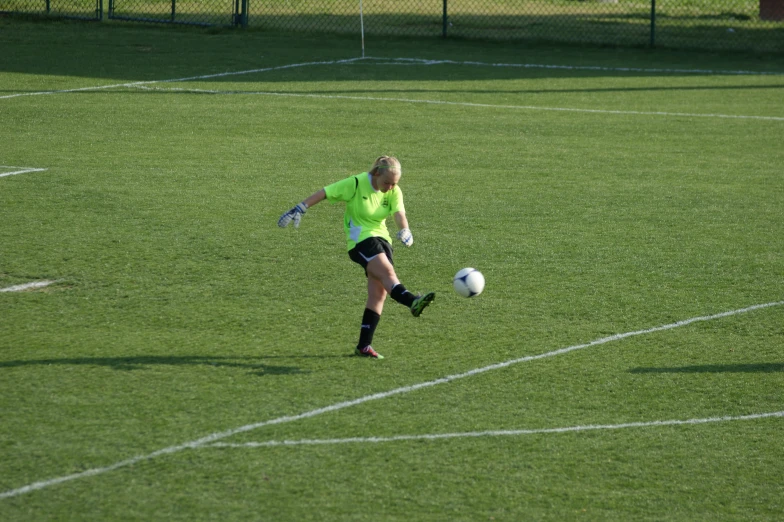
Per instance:
[[[781,520],[784,58],[366,45],[0,21],[0,519]]]

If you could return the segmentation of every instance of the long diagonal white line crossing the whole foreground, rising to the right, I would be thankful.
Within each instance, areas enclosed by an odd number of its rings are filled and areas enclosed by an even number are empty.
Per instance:
[[[272,425],[275,425],[275,424],[284,424],[284,423],[294,422],[294,421],[298,421],[298,420],[302,420],[302,419],[308,419],[308,418],[315,417],[317,415],[321,415],[321,414],[324,414],[324,413],[330,413],[330,412],[333,412],[333,411],[338,411],[338,410],[342,410],[342,409],[345,409],[345,408],[350,408],[352,406],[357,406],[359,404],[364,404],[366,402],[370,402],[370,401],[374,401],[374,400],[378,400],[378,399],[386,399],[387,397],[392,397],[392,396],[400,395],[400,394],[403,394],[403,393],[409,393],[409,392],[420,390],[420,389],[423,389],[423,388],[429,388],[431,386],[436,386],[438,384],[445,384],[445,383],[448,383],[448,382],[455,381],[457,379],[463,379],[465,377],[471,377],[471,376],[474,376],[474,375],[479,375],[481,373],[489,372],[489,371],[492,371],[492,370],[499,370],[501,368],[506,368],[508,366],[512,366],[513,364],[518,364],[518,363],[528,362],[528,361],[535,361],[535,360],[538,360],[538,359],[544,359],[546,357],[554,357],[556,355],[563,355],[565,353],[573,352],[575,350],[581,350],[583,348],[589,348],[591,346],[597,346],[597,345],[609,343],[609,342],[612,342],[612,341],[619,341],[621,339],[626,339],[627,337],[633,337],[633,336],[636,336],[636,335],[645,335],[645,334],[654,333],[654,332],[662,332],[662,331],[665,331],[665,330],[672,330],[673,328],[679,328],[681,326],[686,326],[686,325],[689,325],[689,324],[692,324],[692,323],[696,323],[696,322],[712,321],[714,319],[720,319],[722,317],[729,317],[729,316],[732,316],[732,315],[738,315],[738,314],[742,314],[742,313],[746,313],[746,312],[751,312],[751,311],[754,311],[754,310],[761,310],[763,308],[770,308],[772,306],[781,306],[781,305],[784,305],[784,301],[775,301],[775,302],[771,302],[771,303],[758,304],[758,305],[753,305],[753,306],[749,306],[749,307],[746,307],[746,308],[740,308],[740,309],[737,309],[737,310],[730,310],[729,312],[722,312],[722,313],[714,314],[714,315],[706,315],[706,316],[701,316],[701,317],[692,317],[691,319],[685,319],[683,321],[678,321],[676,323],[670,323],[670,324],[665,324],[665,325],[662,325],[662,326],[656,326],[656,327],[653,327],[653,328],[648,328],[646,330],[636,330],[636,331],[633,331],[633,332],[626,332],[626,333],[611,335],[609,337],[602,337],[601,339],[596,339],[596,340],[591,341],[589,343],[576,344],[574,346],[569,346],[567,348],[561,348],[559,350],[554,350],[552,352],[547,352],[547,353],[543,353],[543,354],[539,354],[539,355],[529,355],[529,356],[526,356],[526,357],[520,357],[518,359],[511,359],[511,360],[506,361],[506,362],[491,364],[489,366],[484,366],[482,368],[476,368],[474,370],[469,370],[469,371],[464,372],[464,373],[459,373],[459,374],[455,374],[455,375],[448,375],[446,377],[442,377],[440,379],[435,379],[433,381],[422,382],[422,383],[414,384],[414,385],[411,385],[411,386],[403,386],[402,388],[395,388],[394,390],[389,390],[389,391],[380,392],[380,393],[374,393],[372,395],[365,395],[364,397],[360,397],[358,399],[354,399],[354,400],[350,400],[350,401],[338,402],[338,403],[332,404],[330,406],[325,406],[323,408],[317,408],[315,410],[306,411],[304,413],[300,413],[300,414],[297,414],[297,415],[288,415],[288,416],[284,416],[284,417],[278,417],[276,419],[271,419],[271,420],[266,420],[266,421],[261,421],[261,422],[255,422],[253,424],[246,424],[245,426],[240,426],[239,428],[234,428],[234,429],[230,429],[230,430],[226,430],[226,431],[212,433],[210,435],[207,435],[207,436],[202,437],[200,439],[196,439],[196,440],[191,441],[191,442],[186,442],[184,444],[179,444],[179,445],[176,445],[176,446],[169,446],[168,448],[163,448],[163,449],[160,449],[158,451],[154,451],[152,453],[149,453],[147,455],[139,455],[139,456],[136,456],[136,457],[132,457],[132,458],[129,458],[129,459],[117,462],[115,464],[112,464],[110,466],[106,466],[106,467],[102,467],[102,468],[88,469],[87,471],[82,471],[80,473],[74,473],[72,475],[65,475],[63,477],[57,477],[57,478],[53,478],[53,479],[43,480],[43,481],[40,481],[40,482],[34,482],[32,484],[28,484],[27,486],[23,486],[23,487],[20,487],[20,488],[17,488],[17,489],[12,489],[12,490],[9,490],[9,491],[2,492],[2,493],[0,493],[0,499],[16,497],[18,495],[22,495],[22,494],[25,494],[25,493],[30,493],[32,491],[36,491],[36,490],[39,490],[39,489],[44,489],[44,488],[47,488],[49,486],[54,486],[56,484],[61,484],[63,482],[68,482],[68,481],[71,481],[71,480],[76,480],[76,479],[85,478],[85,477],[91,477],[91,476],[94,476],[94,475],[100,475],[102,473],[106,473],[106,472],[109,472],[109,471],[114,471],[116,469],[123,468],[123,467],[126,467],[126,466],[131,466],[131,465],[136,464],[138,462],[141,462],[141,461],[144,461],[144,460],[150,460],[150,459],[153,459],[153,458],[156,458],[156,457],[160,457],[162,455],[169,455],[169,454],[177,453],[177,452],[180,452],[180,451],[186,450],[186,449],[198,448],[200,446],[205,446],[207,444],[214,443],[214,442],[216,442],[218,440],[225,439],[227,437],[231,437],[231,436],[237,435],[239,433],[244,433],[244,432],[247,432],[247,431],[256,430],[256,429],[262,428],[264,426],[272,426]]]

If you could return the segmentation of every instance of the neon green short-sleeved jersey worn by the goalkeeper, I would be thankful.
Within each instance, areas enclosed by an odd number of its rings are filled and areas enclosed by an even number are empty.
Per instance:
[[[346,231],[348,250],[369,237],[383,237],[390,243],[387,216],[405,212],[403,193],[400,187],[381,192],[373,189],[370,174],[363,172],[324,187],[327,201],[346,202],[343,228]]]

